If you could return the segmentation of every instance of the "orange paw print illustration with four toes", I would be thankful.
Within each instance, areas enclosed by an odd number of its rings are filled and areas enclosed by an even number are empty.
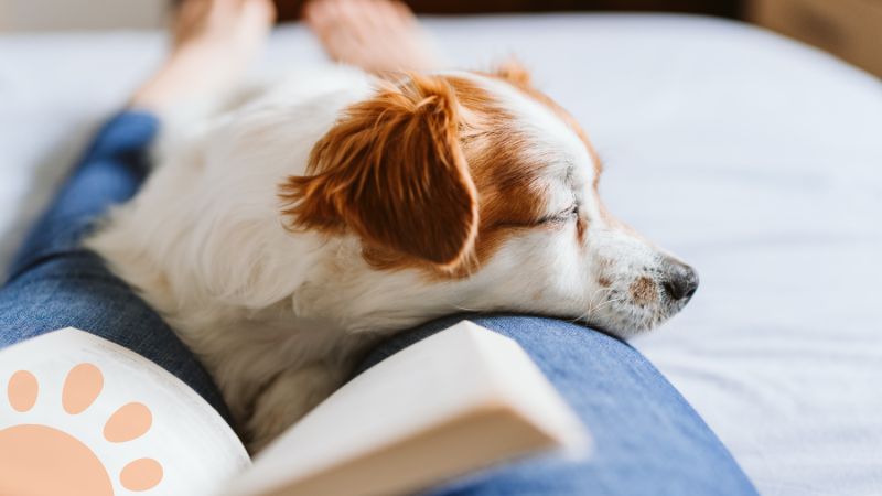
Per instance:
[[[79,416],[95,403],[103,388],[100,369],[93,364],[79,364],[64,379],[61,407],[67,416]],[[14,373],[7,385],[7,399],[21,414],[21,423],[0,430],[0,494],[114,494],[111,475],[83,441],[56,427],[46,425],[47,422],[28,423],[28,414],[37,401],[58,401],[57,398],[40,397],[40,382],[33,374],[26,370]],[[63,416],[58,412],[55,418]],[[126,443],[148,433],[152,422],[147,406],[130,402],[106,420],[103,439],[108,443]],[[126,489],[148,490],[162,482],[162,465],[149,457],[133,460],[114,476]]]

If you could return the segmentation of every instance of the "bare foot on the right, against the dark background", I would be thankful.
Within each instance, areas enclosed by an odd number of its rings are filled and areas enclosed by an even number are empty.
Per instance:
[[[335,61],[377,73],[441,65],[413,12],[400,1],[312,0],[303,17]]]

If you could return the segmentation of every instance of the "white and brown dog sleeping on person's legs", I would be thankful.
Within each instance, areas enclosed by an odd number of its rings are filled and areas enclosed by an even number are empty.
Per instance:
[[[697,289],[606,211],[585,133],[517,64],[336,67],[240,100],[86,245],[203,360],[251,451],[397,331],[510,311],[628,338]]]

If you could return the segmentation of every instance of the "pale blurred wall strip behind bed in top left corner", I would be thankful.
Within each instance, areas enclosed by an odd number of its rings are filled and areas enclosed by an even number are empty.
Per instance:
[[[170,0],[0,0],[0,30],[157,28]]]

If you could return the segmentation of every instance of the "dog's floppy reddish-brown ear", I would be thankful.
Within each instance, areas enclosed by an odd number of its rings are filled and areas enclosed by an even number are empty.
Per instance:
[[[316,144],[310,176],[280,195],[291,228],[351,230],[368,245],[455,268],[477,234],[477,193],[459,140],[456,97],[410,75],[348,108]]]

